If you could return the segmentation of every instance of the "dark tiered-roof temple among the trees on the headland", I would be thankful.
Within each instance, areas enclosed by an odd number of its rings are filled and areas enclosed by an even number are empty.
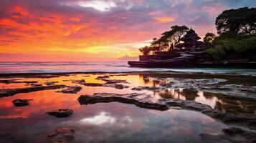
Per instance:
[[[193,29],[190,29],[186,32],[186,35],[181,38],[183,43],[177,44],[176,49],[191,50],[202,48],[204,46],[204,42],[198,41],[199,39],[201,38],[196,34],[196,32]]]

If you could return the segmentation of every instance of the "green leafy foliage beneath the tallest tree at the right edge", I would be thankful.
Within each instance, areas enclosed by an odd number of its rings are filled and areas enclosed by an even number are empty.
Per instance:
[[[234,51],[237,54],[245,51],[256,50],[256,36],[219,36],[214,40],[214,47],[207,49],[207,52],[211,54],[214,59],[222,59],[227,52]]]

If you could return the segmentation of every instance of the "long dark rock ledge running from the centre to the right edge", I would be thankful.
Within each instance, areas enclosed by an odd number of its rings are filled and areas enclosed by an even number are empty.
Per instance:
[[[121,102],[126,104],[135,104],[137,107],[157,110],[191,109],[207,114],[209,117],[219,119],[227,124],[237,124],[256,130],[256,115],[253,114],[227,114],[212,109],[207,104],[201,104],[193,100],[180,99],[158,99],[153,100],[148,94],[113,94],[113,93],[95,93],[93,95],[81,95],[78,97],[80,104],[95,104],[99,102]]]

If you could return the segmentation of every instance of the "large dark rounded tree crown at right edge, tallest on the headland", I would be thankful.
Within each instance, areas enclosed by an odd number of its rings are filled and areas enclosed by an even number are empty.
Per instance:
[[[215,21],[217,33],[223,34],[256,34],[256,8],[248,7],[229,9],[217,16]]]

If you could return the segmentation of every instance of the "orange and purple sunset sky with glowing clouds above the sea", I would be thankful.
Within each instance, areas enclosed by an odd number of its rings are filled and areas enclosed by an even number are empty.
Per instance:
[[[256,0],[0,0],[0,61],[118,61],[174,24],[199,36]]]

